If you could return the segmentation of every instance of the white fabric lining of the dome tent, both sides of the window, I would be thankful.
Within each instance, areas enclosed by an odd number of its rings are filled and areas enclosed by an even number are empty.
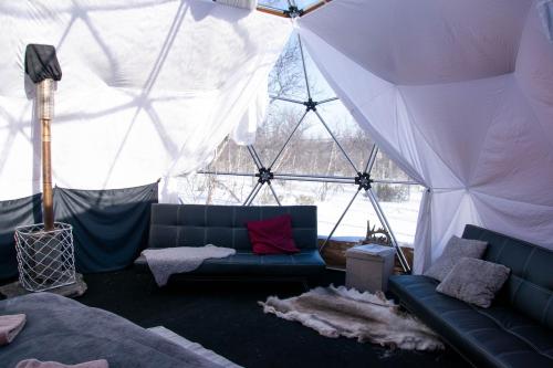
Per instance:
[[[63,70],[54,182],[87,190],[58,191],[58,211],[71,215],[158,178],[160,200],[174,200],[170,178],[201,168],[227,135],[251,144],[295,24],[356,120],[429,190],[416,271],[466,223],[551,248],[552,7],[334,0],[291,20],[201,0],[1,4],[0,200],[40,192],[28,43],[55,45]],[[133,196],[154,200],[150,188]],[[18,203],[6,208],[24,217]],[[82,256],[106,270],[124,263],[102,263],[119,253]]]

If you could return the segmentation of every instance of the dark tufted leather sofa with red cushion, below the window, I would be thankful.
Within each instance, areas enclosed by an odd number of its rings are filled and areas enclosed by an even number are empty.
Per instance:
[[[257,255],[246,222],[289,213],[296,254]],[[153,204],[148,248],[217,246],[233,248],[234,255],[206,260],[197,270],[179,278],[316,278],[325,270],[317,248],[316,207],[314,206],[202,206]],[[149,272],[144,256],[135,261],[140,272]],[[174,275],[171,278],[175,278]]]

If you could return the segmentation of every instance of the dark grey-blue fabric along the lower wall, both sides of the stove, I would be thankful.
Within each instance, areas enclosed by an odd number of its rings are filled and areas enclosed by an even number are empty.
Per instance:
[[[157,182],[126,189],[55,188],[55,221],[73,225],[79,272],[105,272],[132,264],[146,248]],[[18,275],[15,228],[42,222],[41,194],[0,201],[0,280]]]

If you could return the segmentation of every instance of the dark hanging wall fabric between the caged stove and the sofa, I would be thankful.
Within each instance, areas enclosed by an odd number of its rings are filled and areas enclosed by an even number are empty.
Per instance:
[[[55,221],[73,225],[80,272],[104,272],[133,263],[147,244],[157,183],[114,190],[55,188]]]

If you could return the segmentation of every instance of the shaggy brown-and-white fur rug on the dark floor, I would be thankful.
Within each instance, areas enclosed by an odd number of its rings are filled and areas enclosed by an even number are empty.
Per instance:
[[[442,349],[438,336],[415,317],[400,312],[384,293],[359,293],[345,286],[316,287],[300,296],[259,302],[264,313],[298,320],[326,337],[355,337],[392,348]]]

